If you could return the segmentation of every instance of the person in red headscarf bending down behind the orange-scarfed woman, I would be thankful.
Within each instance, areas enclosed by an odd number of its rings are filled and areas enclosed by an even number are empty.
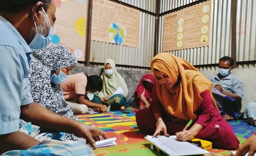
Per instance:
[[[142,76],[137,89],[134,92],[134,102],[139,106],[139,110],[148,108],[152,102],[152,91],[155,84],[153,74]]]

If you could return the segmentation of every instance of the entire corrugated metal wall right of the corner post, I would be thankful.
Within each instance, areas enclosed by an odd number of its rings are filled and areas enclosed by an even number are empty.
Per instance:
[[[181,7],[198,0],[163,0],[160,13]],[[207,65],[218,63],[224,55],[231,56],[231,1],[212,0],[211,44],[199,48],[169,51],[192,63]],[[256,60],[256,0],[238,0],[237,4],[237,61]],[[162,52],[163,16],[160,17],[159,47]],[[255,64],[239,65],[237,68],[255,68]],[[200,68],[200,70],[216,70],[217,67]]]

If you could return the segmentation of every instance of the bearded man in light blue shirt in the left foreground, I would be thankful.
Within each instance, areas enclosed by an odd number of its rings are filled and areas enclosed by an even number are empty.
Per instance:
[[[0,154],[38,145],[38,140],[19,132],[20,118],[44,129],[73,133],[87,139],[93,147],[99,135],[107,137],[102,130],[33,102],[27,79],[30,47],[47,46],[55,9],[51,0],[0,1]],[[33,45],[32,40],[36,41]]]

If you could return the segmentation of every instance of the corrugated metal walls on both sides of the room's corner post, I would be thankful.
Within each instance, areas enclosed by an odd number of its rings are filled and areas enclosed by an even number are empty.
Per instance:
[[[119,0],[141,9],[155,12],[156,0]],[[198,0],[160,0],[160,13]],[[185,58],[192,65],[218,63],[224,55],[231,56],[231,1],[212,0],[212,27],[210,46],[169,51]],[[237,7],[237,61],[256,60],[256,0],[238,0]],[[149,67],[154,54],[155,16],[140,12],[140,47],[128,47],[91,40],[90,62],[104,63],[113,58],[117,64]],[[163,16],[160,17],[158,49],[162,52]],[[255,64],[238,68],[255,68]],[[217,67],[200,68],[216,70]]]

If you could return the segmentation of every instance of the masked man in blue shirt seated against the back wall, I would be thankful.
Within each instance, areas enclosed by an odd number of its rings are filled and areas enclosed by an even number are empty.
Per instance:
[[[233,120],[234,117],[237,117],[241,110],[241,99],[244,94],[243,83],[236,75],[230,73],[232,69],[234,69],[233,58],[224,56],[219,59],[219,73],[210,78],[219,92],[236,100],[236,105],[225,102],[222,104],[222,108],[219,108],[222,117],[226,120]]]

